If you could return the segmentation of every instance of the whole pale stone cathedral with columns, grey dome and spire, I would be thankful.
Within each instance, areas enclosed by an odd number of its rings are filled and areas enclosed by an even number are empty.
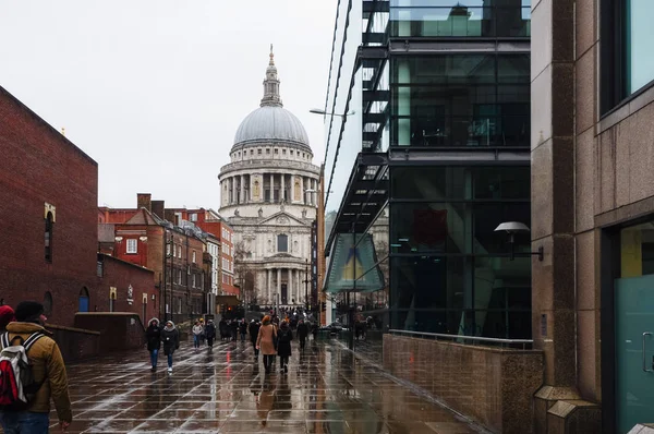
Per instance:
[[[220,214],[234,230],[234,269],[246,302],[293,306],[311,279],[319,168],[300,120],[283,108],[272,50],[261,107],[237,130],[220,169]],[[308,264],[308,266],[307,266]],[[241,276],[239,276],[239,274]],[[308,290],[311,299],[311,288]]]

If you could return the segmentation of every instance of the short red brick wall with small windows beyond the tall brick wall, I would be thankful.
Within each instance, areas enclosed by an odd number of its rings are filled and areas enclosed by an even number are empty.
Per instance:
[[[143,324],[159,316],[159,291],[155,288],[154,273],[111,256],[100,256],[104,263],[102,277],[99,278],[95,294],[89,301],[89,311],[108,312],[111,287],[117,298],[113,312],[133,312]],[[132,303],[128,300],[128,288],[132,286]],[[144,294],[147,302],[143,302]],[[155,300],[153,300],[153,296]],[[145,316],[144,316],[145,305]]]

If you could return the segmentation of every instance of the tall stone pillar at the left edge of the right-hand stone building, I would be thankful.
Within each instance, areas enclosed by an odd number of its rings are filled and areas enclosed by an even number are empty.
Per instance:
[[[593,8],[585,4],[581,11]],[[574,7],[573,0],[541,0],[532,7],[532,28],[544,35],[534,37],[531,47],[537,53],[531,57],[531,237],[532,251],[544,249],[543,261],[532,258],[532,337],[534,348],[544,352],[545,363],[543,387],[534,397],[535,426],[547,426],[546,418],[552,418],[547,410],[556,401],[580,399],[577,374],[578,369],[583,370],[578,365],[576,348],[571,206],[576,198]],[[592,33],[592,25],[583,27]],[[591,81],[593,68],[588,74]]]

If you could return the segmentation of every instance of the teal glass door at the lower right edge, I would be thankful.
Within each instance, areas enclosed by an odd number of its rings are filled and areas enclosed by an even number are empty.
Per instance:
[[[619,433],[654,414],[654,275],[616,279],[616,421]]]

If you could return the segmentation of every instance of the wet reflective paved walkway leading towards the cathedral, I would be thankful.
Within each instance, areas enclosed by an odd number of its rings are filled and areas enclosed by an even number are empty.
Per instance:
[[[266,375],[252,346],[175,352],[172,374],[147,352],[69,366],[71,433],[476,433],[449,410],[355,360],[339,342],[293,342],[289,373]],[[57,414],[51,413],[51,431]]]

